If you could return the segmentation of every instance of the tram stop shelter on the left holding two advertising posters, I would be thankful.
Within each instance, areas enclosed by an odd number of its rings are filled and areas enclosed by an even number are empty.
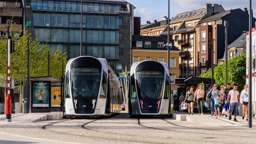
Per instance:
[[[30,77],[29,85],[29,112],[61,111],[61,79],[54,76]]]

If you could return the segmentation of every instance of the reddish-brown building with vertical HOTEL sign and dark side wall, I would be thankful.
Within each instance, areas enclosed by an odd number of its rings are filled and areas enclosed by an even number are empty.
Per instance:
[[[219,12],[210,17],[202,19],[199,21],[196,26],[196,53],[195,57],[195,74],[199,70],[199,75],[202,72],[205,72],[207,69],[212,66],[212,47],[211,47],[211,38],[213,38],[213,64],[216,66],[219,59],[225,59],[225,27],[224,21],[228,21],[228,47],[229,57],[236,56],[238,54],[236,48],[234,47],[243,47],[243,42],[245,42],[244,31],[249,30],[249,14],[247,8],[244,8],[244,11],[241,9],[234,9]],[[255,26],[255,19],[252,19],[252,27]],[[241,34],[243,34],[241,36]],[[240,37],[241,36],[241,37]],[[239,38],[240,37],[240,38]],[[243,40],[242,40],[243,39]],[[239,41],[240,42],[237,42]],[[231,44],[233,43],[234,44]],[[237,46],[236,44],[240,44]],[[235,46],[236,45],[236,46]],[[239,49],[239,53],[240,53]],[[197,52],[199,52],[199,67]],[[234,53],[233,53],[234,52]],[[223,56],[224,55],[224,56]],[[221,64],[221,63],[220,63]]]

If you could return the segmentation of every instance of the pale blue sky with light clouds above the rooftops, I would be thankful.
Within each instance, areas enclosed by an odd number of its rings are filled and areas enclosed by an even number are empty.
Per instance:
[[[168,0],[126,0],[136,7],[134,16],[140,17],[140,23],[162,20],[168,16]],[[170,18],[178,13],[205,8],[205,4],[221,4],[227,11],[246,7],[249,10],[249,0],[170,0]],[[252,10],[256,11],[256,0],[252,0]],[[255,16],[254,16],[255,17]]]

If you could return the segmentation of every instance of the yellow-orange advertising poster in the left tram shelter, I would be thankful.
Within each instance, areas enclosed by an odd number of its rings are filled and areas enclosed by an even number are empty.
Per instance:
[[[60,107],[60,86],[52,86],[51,107]]]

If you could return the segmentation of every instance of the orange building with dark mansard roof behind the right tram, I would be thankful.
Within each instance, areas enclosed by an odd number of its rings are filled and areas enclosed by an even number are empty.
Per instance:
[[[132,63],[143,60],[156,60],[168,63],[167,36],[132,36]],[[177,90],[175,78],[179,77],[179,49],[175,46],[170,49],[170,84],[171,90]]]

